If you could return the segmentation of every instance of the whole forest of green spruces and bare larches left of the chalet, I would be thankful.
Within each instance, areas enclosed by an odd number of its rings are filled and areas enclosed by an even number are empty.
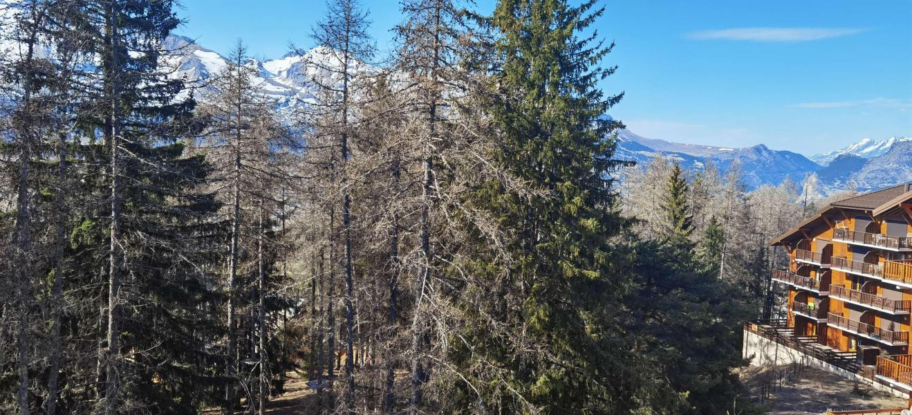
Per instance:
[[[171,0],[0,3],[0,412],[759,411],[795,186],[614,160],[596,0],[399,6],[378,57],[330,0],[279,109],[240,43],[171,76]]]

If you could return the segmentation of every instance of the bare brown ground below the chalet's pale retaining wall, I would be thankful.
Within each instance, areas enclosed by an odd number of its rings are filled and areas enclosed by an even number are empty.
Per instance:
[[[785,376],[789,367],[741,368],[741,382],[751,397],[765,404],[771,415],[819,415],[826,410],[876,410],[903,408],[907,399],[896,398],[865,384],[845,379],[824,370],[803,368]],[[771,392],[760,399],[763,385]]]

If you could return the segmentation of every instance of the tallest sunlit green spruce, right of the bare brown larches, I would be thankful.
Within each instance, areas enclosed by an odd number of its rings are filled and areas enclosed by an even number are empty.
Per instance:
[[[606,97],[596,86],[615,72],[600,66],[613,44],[580,35],[603,14],[596,1],[503,0],[489,21],[493,158],[532,192],[488,182],[470,196],[509,235],[508,259],[490,247],[472,255],[491,292],[462,294],[484,299],[464,309],[464,340],[451,351],[476,380],[447,399],[454,413],[633,405],[625,397],[636,377],[617,331],[626,252],[614,243],[627,222],[609,179],[620,165],[612,132],[621,125],[604,117],[622,94]]]

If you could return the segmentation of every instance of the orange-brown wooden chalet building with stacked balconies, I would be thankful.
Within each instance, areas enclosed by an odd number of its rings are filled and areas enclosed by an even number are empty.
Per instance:
[[[912,183],[832,202],[772,245],[790,256],[772,271],[788,334],[912,390]]]

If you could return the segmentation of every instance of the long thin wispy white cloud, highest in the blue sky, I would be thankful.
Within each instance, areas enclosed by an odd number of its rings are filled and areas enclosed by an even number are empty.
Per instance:
[[[701,30],[687,34],[696,40],[742,40],[749,42],[807,42],[830,37],[856,35],[865,29],[857,27],[738,27]]]

